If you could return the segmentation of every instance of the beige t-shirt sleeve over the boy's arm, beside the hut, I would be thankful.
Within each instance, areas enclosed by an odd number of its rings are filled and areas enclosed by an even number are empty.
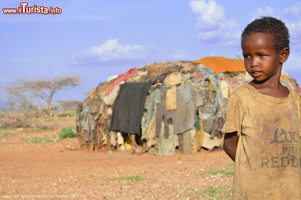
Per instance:
[[[226,121],[222,127],[222,133],[232,133],[237,131],[237,136],[241,133],[241,123],[244,118],[244,111],[234,94],[231,94],[226,108]]]

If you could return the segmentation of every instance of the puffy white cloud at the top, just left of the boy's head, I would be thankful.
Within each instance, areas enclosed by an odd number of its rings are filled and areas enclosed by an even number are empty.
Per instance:
[[[214,0],[190,1],[191,10],[198,15],[195,29],[198,38],[206,42],[219,42],[223,46],[237,46],[240,31],[234,19],[225,17],[225,9]]]

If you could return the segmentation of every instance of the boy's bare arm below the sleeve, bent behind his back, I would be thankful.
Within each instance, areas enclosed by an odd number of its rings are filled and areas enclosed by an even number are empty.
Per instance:
[[[224,151],[235,162],[235,154],[237,149],[238,137],[237,132],[225,133],[224,136]]]

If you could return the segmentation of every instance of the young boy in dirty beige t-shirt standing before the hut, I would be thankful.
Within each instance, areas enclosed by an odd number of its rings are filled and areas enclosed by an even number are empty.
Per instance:
[[[301,199],[301,98],[280,83],[289,37],[273,17],[254,20],[241,35],[254,80],[231,94],[221,130],[235,162],[232,199]]]

